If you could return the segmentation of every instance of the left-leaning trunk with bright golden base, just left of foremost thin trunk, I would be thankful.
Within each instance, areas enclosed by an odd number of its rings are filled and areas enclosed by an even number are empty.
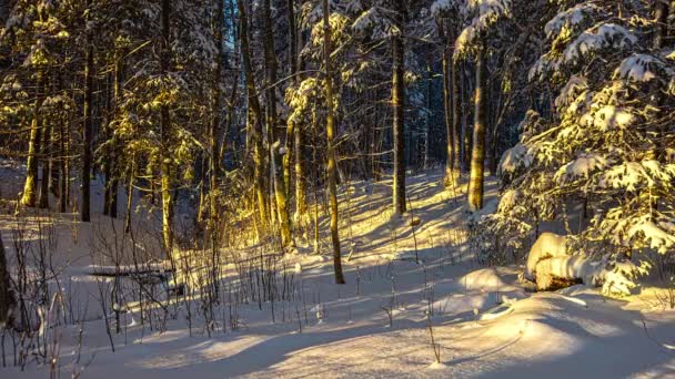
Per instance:
[[[286,190],[283,178],[283,156],[281,152],[281,139],[278,132],[278,114],[276,114],[276,57],[274,51],[274,32],[272,30],[272,11],[270,0],[263,1],[263,21],[265,29],[264,53],[265,53],[265,71],[268,81],[268,131],[271,135],[270,158],[272,180],[274,182],[274,198],[276,201],[276,217],[280,223],[281,244],[283,247],[293,245],[291,235],[291,222],[289,217],[289,208],[286,205]]]

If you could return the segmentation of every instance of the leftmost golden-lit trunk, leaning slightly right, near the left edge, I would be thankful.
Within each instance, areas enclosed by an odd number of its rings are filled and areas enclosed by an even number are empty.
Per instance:
[[[23,184],[23,195],[21,204],[36,206],[38,199],[38,155],[40,154],[40,109],[44,100],[42,93],[43,73],[38,72],[38,83],[36,84],[36,105],[33,116],[30,122],[30,137],[28,141],[28,161],[26,163],[26,183]]]

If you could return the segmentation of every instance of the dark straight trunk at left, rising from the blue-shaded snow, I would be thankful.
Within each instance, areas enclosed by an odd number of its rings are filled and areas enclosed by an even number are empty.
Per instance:
[[[87,0],[87,8],[90,7],[91,0]],[[88,32],[87,35],[87,53],[84,57],[84,121],[82,123],[82,172],[80,176],[80,180],[82,182],[80,194],[80,219],[85,223],[91,219],[91,133],[93,130],[93,38],[89,33],[90,32]]]

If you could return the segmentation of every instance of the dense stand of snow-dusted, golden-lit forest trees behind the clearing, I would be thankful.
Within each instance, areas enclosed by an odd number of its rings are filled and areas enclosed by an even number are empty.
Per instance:
[[[470,213],[485,175],[502,178],[496,212],[475,226],[500,259],[522,258],[555,219],[588,254],[669,252],[672,9],[12,0],[0,9],[0,154],[26,162],[21,206],[129,229],[133,196],[119,196],[141,193],[168,256],[268,237],[293,249],[319,234],[323,203],[338,281],[338,186],[391,174],[403,214],[405,176],[441,165],[449,191],[469,182]],[[98,178],[104,204],[91,209]]]

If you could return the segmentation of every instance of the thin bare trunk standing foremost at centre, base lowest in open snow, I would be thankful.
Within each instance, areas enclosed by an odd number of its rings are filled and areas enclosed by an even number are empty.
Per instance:
[[[328,171],[329,171],[329,197],[331,199],[331,239],[333,240],[333,268],[335,270],[335,283],[344,284],[342,275],[342,257],[340,254],[340,235],[338,234],[338,167],[335,166],[335,117],[333,115],[333,74],[331,70],[331,23],[329,1],[323,0],[323,60],[325,68],[325,100],[326,100],[326,136],[328,136]]]

